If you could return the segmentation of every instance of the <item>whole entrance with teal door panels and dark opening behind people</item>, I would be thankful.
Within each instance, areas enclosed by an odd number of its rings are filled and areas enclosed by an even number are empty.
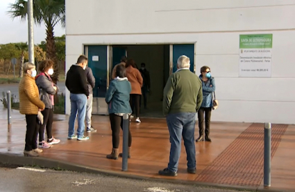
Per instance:
[[[192,72],[195,71],[192,44],[140,44],[140,45],[84,45],[88,65],[92,68],[96,85],[94,88],[92,114],[108,115],[105,96],[111,81],[111,71],[119,64],[122,56],[135,60],[138,69],[146,64],[151,79],[151,91],[147,94],[147,109],[144,109],[143,97],[140,117],[164,117],[162,115],[162,93],[171,73],[176,72],[177,59],[187,55],[191,61]]]

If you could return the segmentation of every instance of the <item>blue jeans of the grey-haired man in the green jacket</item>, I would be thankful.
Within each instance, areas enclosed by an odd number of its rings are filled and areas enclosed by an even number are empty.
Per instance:
[[[196,169],[196,146],[194,144],[194,126],[196,113],[174,113],[166,117],[170,134],[170,157],[168,169],[177,171],[181,151],[181,136],[187,152],[187,169]]]

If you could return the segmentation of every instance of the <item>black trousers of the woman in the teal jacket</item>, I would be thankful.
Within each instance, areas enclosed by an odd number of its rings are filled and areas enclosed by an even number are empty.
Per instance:
[[[112,128],[112,148],[118,148],[120,142],[120,127],[123,130],[123,117],[115,115],[114,113],[110,114],[110,127]],[[128,146],[130,147],[132,143],[132,137],[128,133]]]

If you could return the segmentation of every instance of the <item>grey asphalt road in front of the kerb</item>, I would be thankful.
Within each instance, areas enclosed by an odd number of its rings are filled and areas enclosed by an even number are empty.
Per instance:
[[[237,192],[188,184],[170,184],[121,177],[53,171],[32,167],[0,168],[0,191],[51,192],[51,191],[120,191],[120,192]]]

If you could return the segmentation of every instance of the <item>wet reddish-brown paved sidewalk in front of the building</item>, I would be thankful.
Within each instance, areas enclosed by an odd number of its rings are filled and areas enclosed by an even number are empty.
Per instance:
[[[6,119],[6,110],[0,108],[0,155],[8,153],[19,157],[24,150],[26,131],[24,116],[19,115],[18,111],[12,112],[12,128],[9,133]],[[77,166],[84,167],[83,170],[87,172],[93,169],[115,175],[264,189],[263,124],[213,122],[210,133],[212,143],[196,143],[196,175],[186,172],[186,155],[183,146],[178,176],[162,177],[158,175],[158,171],[167,167],[170,149],[165,119],[142,119],[141,124],[135,122],[130,124],[133,145],[127,172],[121,171],[121,158],[106,159],[112,148],[108,116],[93,116],[93,126],[97,129],[97,133],[85,133],[90,136],[90,140],[83,142],[67,140],[65,115],[56,115],[55,119],[53,135],[61,142],[44,149],[41,155],[43,158],[33,158],[34,164],[38,164],[41,160],[53,160],[48,166],[60,168]],[[196,127],[196,137],[199,136],[197,130]],[[272,133],[270,189],[295,191],[295,126],[273,125]],[[120,141],[120,151],[121,143],[122,141]],[[62,163],[56,164],[54,163],[56,161]],[[69,166],[65,166],[65,163],[69,163]]]

